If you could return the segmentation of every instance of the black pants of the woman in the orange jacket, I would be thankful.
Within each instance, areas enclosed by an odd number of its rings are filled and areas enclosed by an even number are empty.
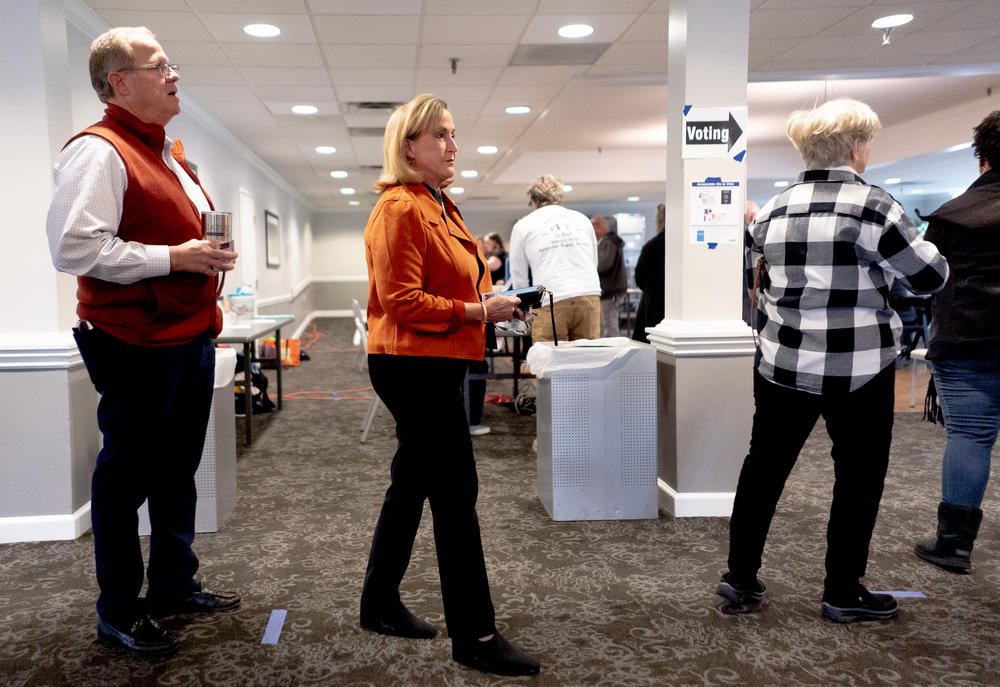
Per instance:
[[[399,602],[424,500],[431,506],[445,621],[452,639],[496,631],[476,515],[479,479],[462,401],[468,362],[370,355],[375,392],[396,420],[392,482],[375,526],[361,612]]]

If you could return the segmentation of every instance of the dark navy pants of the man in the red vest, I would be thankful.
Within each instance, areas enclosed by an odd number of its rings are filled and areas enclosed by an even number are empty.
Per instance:
[[[74,330],[101,394],[104,447],[91,482],[97,612],[128,627],[149,598],[197,591],[191,550],[201,461],[211,410],[215,346],[207,336],[176,346],[136,346],[99,329]],[[149,568],[139,548],[139,506],[149,499]]]

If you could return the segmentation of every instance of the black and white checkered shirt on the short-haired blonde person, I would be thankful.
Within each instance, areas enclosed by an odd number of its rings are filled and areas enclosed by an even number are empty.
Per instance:
[[[887,280],[931,293],[948,277],[902,206],[847,168],[803,172],[761,208],[746,247],[748,269],[767,261],[757,370],[810,393],[854,391],[894,363],[902,323]]]

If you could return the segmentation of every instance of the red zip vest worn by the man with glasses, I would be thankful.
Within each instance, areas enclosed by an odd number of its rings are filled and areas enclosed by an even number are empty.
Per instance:
[[[177,176],[163,161],[163,127],[148,124],[116,105],[104,119],[80,136],[100,136],[125,163],[125,189],[118,237],[150,245],[176,246],[201,238],[201,213],[184,192]],[[179,143],[179,142],[178,142]],[[174,158],[198,184],[175,146]],[[202,189],[204,192],[204,189]],[[209,206],[212,205],[205,194]],[[222,330],[222,311],[215,302],[215,278],[194,272],[171,272],[132,284],[94,277],[77,277],[76,312],[123,341],[143,346],[167,346]]]

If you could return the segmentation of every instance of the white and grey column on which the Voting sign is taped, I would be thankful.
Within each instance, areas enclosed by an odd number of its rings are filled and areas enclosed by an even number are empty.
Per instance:
[[[739,236],[732,243],[705,243],[691,229],[691,185],[716,177],[738,182],[742,223],[745,162],[682,155],[684,106],[746,106],[749,15],[749,0],[670,3],[666,319],[649,330],[649,340],[660,386],[660,505],[678,517],[732,512],[753,416],[754,347],[741,319],[742,233],[731,231]]]

